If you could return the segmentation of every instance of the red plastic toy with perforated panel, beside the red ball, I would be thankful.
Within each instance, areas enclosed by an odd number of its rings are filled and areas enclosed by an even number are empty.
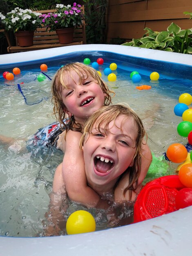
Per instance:
[[[148,182],[136,199],[134,222],[176,211],[175,197],[184,187],[178,175],[163,176]]]

